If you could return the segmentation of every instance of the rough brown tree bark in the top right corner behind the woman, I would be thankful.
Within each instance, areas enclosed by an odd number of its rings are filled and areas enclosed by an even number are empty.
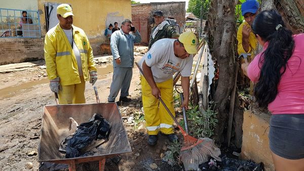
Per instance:
[[[283,16],[286,26],[294,34],[304,32],[303,0],[275,0],[275,6]]]

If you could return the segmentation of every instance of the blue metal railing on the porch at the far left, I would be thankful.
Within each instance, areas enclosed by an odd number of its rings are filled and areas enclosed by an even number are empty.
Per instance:
[[[41,37],[38,11],[0,8],[0,38]]]

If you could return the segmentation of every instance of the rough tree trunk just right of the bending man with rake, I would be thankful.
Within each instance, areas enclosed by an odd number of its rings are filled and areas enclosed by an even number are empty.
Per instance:
[[[212,48],[214,51],[212,56],[217,60],[219,66],[219,78],[214,96],[214,101],[216,103],[215,110],[218,112],[215,140],[219,143],[223,143],[226,138],[224,133],[226,132],[227,116],[229,115],[230,95],[235,82],[235,1],[212,1],[209,25],[211,37],[214,37]],[[236,101],[239,101],[239,99],[236,98]],[[235,103],[235,105],[239,104],[239,102]],[[239,106],[235,106],[235,111],[237,109],[239,109]],[[239,112],[236,112],[236,114],[239,114]],[[240,117],[234,116],[234,118],[234,120],[239,120]],[[235,126],[234,123],[234,128],[242,129],[242,126]],[[236,132],[240,133],[239,130],[234,130],[234,133]],[[239,139],[240,135],[237,137]]]

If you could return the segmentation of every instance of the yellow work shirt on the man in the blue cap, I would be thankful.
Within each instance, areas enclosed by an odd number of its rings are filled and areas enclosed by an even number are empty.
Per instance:
[[[243,27],[244,27],[245,24],[248,25],[248,23],[246,21],[244,21],[238,29],[238,35],[237,35],[238,54],[241,55],[243,53],[251,53],[251,59],[253,59],[254,54],[255,54],[255,50],[257,48],[257,39],[255,38],[254,33],[251,31],[250,35],[249,35],[249,51],[246,52],[243,48],[243,45],[242,45],[242,38],[243,38],[242,31],[243,31]]]

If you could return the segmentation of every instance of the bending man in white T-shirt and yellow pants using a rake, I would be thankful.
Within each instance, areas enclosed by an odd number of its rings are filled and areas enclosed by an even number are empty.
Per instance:
[[[141,76],[142,104],[149,145],[156,145],[159,131],[167,135],[170,141],[178,140],[173,132],[173,119],[158,98],[162,97],[174,114],[172,76],[180,71],[184,95],[181,107],[188,108],[189,76],[193,64],[193,56],[190,54],[197,53],[197,41],[195,34],[190,31],[180,34],[178,39],[162,38],[152,45],[139,62],[147,79]]]

